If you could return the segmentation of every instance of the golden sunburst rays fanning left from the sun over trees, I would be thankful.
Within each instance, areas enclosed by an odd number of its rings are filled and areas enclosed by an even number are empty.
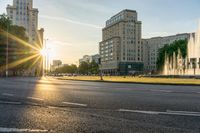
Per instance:
[[[30,43],[20,39],[19,37],[15,36],[11,33],[8,33],[4,30],[1,30],[0,35],[4,36],[4,37],[8,37],[9,40],[17,42],[17,45],[24,46],[24,49],[14,48],[15,50],[13,52],[12,52],[12,50],[11,51],[9,50],[9,56],[16,56],[16,57],[19,57],[20,59],[9,62],[7,64],[8,67],[6,67],[6,64],[3,66],[0,66],[1,71],[6,71],[6,69],[13,69],[24,63],[28,63],[28,69],[32,69],[34,67],[37,67],[37,69],[40,69],[40,71],[42,71],[42,69],[44,69],[43,68],[43,66],[44,66],[43,65],[44,64],[43,56],[44,55],[41,54],[42,40],[40,37],[38,37],[38,43],[30,44]]]

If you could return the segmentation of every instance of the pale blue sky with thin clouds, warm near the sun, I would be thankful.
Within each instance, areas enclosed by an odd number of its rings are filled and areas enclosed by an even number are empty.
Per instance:
[[[123,9],[138,12],[142,37],[195,32],[200,0],[33,0],[39,10],[39,28],[51,59],[78,64],[83,55],[98,53],[105,21]],[[0,0],[0,14],[12,0]]]

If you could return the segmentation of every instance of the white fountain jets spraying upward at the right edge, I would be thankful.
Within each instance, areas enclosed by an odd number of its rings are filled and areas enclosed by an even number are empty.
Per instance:
[[[190,35],[186,58],[180,49],[171,57],[165,53],[163,75],[200,75],[200,24],[197,32]]]

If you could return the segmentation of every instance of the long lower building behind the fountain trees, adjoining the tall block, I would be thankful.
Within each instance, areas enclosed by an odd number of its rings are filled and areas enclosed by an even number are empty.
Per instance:
[[[144,51],[144,70],[146,72],[156,72],[159,49],[178,40],[188,40],[189,37],[189,33],[183,33],[166,37],[153,37],[149,39],[143,39],[142,45]]]

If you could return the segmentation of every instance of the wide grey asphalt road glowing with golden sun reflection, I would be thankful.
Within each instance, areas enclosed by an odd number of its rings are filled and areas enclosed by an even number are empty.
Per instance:
[[[0,132],[200,133],[200,87],[0,79]]]

